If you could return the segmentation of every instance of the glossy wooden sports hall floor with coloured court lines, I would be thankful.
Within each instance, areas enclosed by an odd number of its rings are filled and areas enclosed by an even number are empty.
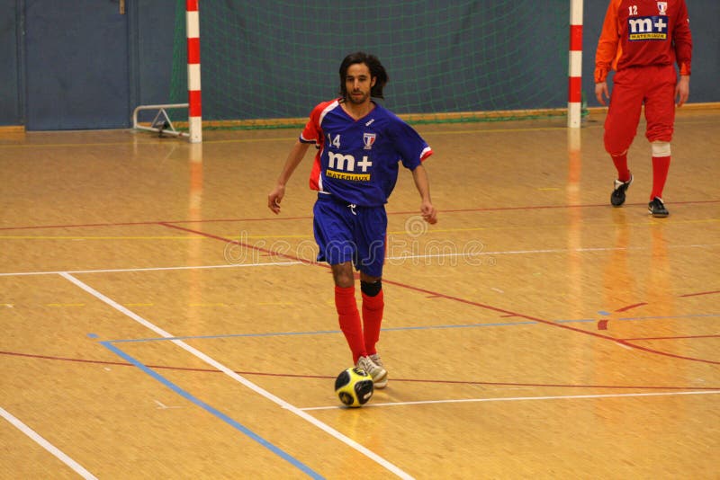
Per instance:
[[[298,129],[2,132],[0,477],[720,478],[720,110],[691,107],[664,219],[642,122],[619,209],[602,111],[418,126],[439,222],[401,172],[359,409],[310,154],[266,208]]]

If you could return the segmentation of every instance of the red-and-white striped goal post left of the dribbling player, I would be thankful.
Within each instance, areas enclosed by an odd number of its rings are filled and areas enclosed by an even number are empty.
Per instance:
[[[200,13],[198,0],[185,0],[187,31],[187,97],[190,141],[202,142],[202,95],[200,89]]]

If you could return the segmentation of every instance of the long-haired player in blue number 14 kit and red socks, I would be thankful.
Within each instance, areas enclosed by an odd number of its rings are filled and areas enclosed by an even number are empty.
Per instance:
[[[372,100],[383,98],[388,81],[374,55],[356,52],[340,65],[340,97],[311,112],[285,161],[267,206],[280,213],[285,185],[308,148],[318,148],[310,185],[318,191],[313,208],[318,261],[328,262],[335,281],[340,329],[353,362],[383,388],[388,373],[376,350],[383,322],[383,263],[387,215],[385,203],[398,179],[399,164],[412,172],[420,194],[420,214],[437,222],[422,163],[433,151],[417,131]],[[356,304],[353,268],[360,271],[362,316]]]

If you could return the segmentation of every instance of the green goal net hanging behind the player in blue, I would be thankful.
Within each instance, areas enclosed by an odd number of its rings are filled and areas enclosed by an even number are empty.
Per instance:
[[[383,104],[414,122],[565,115],[568,0],[200,2],[203,126],[290,127],[338,94],[363,50],[390,76]],[[187,98],[184,0],[173,102]]]

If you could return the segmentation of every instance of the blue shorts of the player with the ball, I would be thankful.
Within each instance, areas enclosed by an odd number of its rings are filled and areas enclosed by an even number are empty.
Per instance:
[[[385,207],[348,205],[337,197],[318,194],[313,230],[320,247],[319,262],[353,262],[370,277],[383,276],[388,217]]]

